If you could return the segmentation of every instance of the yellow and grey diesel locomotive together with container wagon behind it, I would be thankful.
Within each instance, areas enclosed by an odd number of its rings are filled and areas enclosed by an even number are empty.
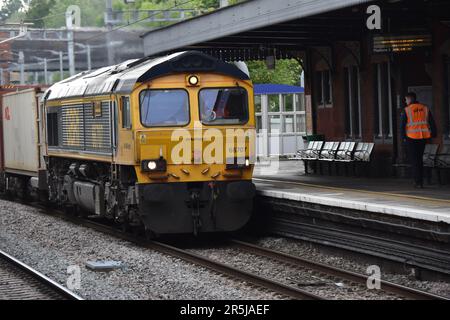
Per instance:
[[[231,232],[250,219],[255,110],[242,65],[187,51],[30,90],[29,109],[20,91],[3,97],[6,191],[154,235]]]

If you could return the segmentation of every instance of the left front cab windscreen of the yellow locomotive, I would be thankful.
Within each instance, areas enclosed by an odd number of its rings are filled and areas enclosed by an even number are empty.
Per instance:
[[[189,123],[187,91],[144,90],[140,94],[141,122],[146,127],[185,126]]]

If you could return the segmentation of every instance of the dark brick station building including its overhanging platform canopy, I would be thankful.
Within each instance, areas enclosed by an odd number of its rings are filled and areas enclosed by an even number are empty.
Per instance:
[[[230,61],[297,59],[305,72],[305,133],[375,143],[374,175],[402,174],[399,121],[409,91],[436,119],[432,143],[450,145],[449,1],[253,0],[143,38],[147,55],[195,49]]]

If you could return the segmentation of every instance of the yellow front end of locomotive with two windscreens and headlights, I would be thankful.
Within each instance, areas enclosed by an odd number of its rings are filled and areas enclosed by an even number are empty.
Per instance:
[[[250,81],[177,74],[138,85],[131,96],[139,184],[251,180],[255,117]],[[129,159],[131,161],[131,159]]]

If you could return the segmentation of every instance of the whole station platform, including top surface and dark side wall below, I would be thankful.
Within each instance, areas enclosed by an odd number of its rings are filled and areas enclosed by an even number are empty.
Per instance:
[[[450,277],[449,186],[305,175],[301,161],[257,165],[254,183],[252,228],[258,232],[393,261],[421,276]]]

